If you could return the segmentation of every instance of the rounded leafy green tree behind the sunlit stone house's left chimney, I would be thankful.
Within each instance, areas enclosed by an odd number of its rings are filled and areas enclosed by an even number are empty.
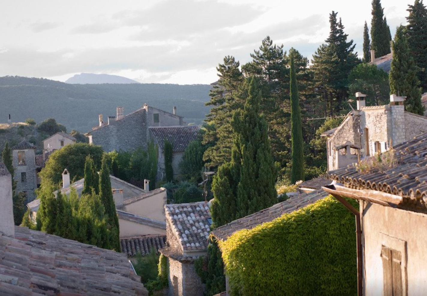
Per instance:
[[[390,93],[389,75],[372,64],[359,64],[348,75],[348,95],[361,92],[367,95],[368,105],[388,103]]]

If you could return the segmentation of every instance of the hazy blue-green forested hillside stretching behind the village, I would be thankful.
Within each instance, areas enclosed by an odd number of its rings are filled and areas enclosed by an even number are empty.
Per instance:
[[[172,112],[185,121],[201,124],[210,107],[210,85],[178,84],[66,84],[43,78],[5,76],[0,78],[0,123],[33,118],[36,122],[54,117],[68,130],[88,132],[97,125],[98,114],[116,115],[123,106],[125,114],[144,103]],[[104,118],[105,118],[104,117]]]

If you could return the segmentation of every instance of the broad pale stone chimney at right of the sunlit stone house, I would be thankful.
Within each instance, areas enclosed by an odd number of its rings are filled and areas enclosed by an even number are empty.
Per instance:
[[[391,139],[393,145],[405,142],[405,102],[406,97],[390,95],[390,109],[392,116]]]

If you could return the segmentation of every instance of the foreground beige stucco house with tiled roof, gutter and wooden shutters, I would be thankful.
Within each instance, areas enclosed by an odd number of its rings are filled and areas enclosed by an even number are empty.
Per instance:
[[[424,295],[427,133],[395,145],[389,167],[329,172],[324,187],[356,216],[359,295]],[[342,197],[358,200],[354,209]]]

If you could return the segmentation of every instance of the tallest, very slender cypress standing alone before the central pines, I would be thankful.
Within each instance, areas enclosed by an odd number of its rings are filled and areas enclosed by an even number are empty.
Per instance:
[[[292,184],[304,180],[304,139],[302,138],[301,111],[299,107],[298,82],[295,75],[294,58],[291,55],[290,97],[291,97],[291,141],[292,141]]]

